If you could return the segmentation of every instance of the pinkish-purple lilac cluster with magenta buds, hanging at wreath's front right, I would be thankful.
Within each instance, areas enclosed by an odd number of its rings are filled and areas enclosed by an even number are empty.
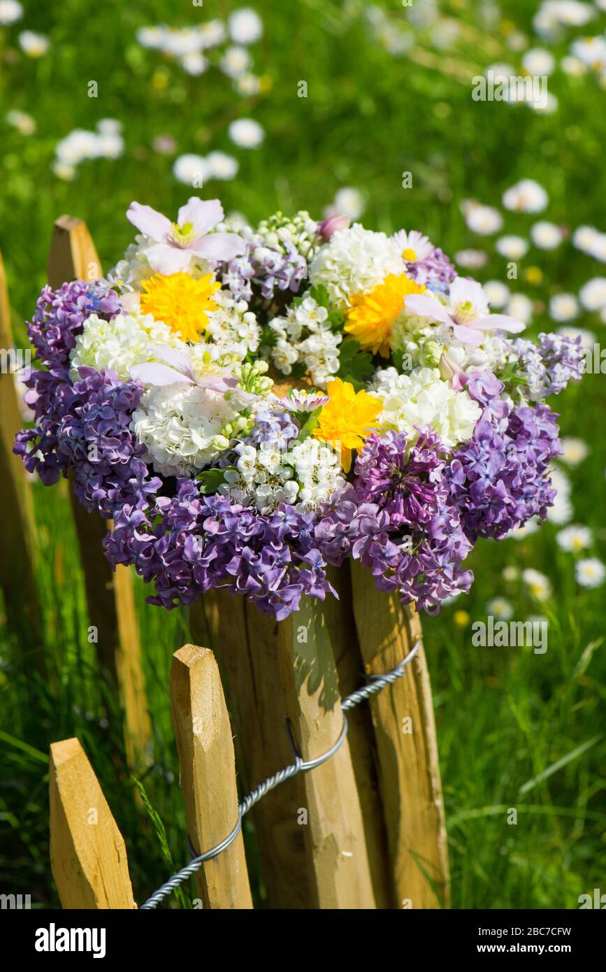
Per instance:
[[[397,591],[403,604],[428,613],[468,591],[473,574],[460,564],[472,543],[449,504],[443,469],[442,444],[430,430],[410,449],[404,434],[370,435],[353,485],[320,509],[315,537],[326,560],[359,560],[380,590]]]

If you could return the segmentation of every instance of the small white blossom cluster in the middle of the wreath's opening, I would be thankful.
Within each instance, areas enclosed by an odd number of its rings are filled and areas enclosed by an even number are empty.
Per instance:
[[[343,335],[330,330],[328,311],[310,295],[290,306],[286,317],[276,317],[269,327],[277,340],[270,350],[272,363],[282,374],[293,364],[304,364],[312,383],[325,388],[339,370],[339,344]]]

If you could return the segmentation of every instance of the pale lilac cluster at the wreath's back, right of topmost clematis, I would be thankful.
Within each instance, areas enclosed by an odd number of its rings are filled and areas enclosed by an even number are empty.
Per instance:
[[[307,260],[291,243],[283,246],[284,252],[249,243],[244,256],[230,260],[226,268],[219,267],[219,279],[236,300],[251,302],[259,294],[261,299],[271,300],[276,291],[297,294],[307,277]]]

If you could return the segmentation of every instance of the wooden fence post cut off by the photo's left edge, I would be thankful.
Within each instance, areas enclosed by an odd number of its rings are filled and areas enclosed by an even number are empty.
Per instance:
[[[17,632],[21,645],[27,645],[33,651],[35,665],[44,673],[42,615],[35,574],[37,544],[33,505],[25,468],[13,452],[15,435],[24,423],[13,375],[17,358],[13,347],[9,291],[1,255],[0,356],[0,507],[3,512],[4,546],[4,555],[0,557],[0,587],[4,594],[9,628]]]

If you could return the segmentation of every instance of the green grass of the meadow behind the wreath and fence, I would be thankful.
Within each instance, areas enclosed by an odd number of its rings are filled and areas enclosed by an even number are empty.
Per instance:
[[[189,78],[134,41],[140,25],[194,23],[223,17],[235,6],[185,6],[174,15],[166,0],[126,7],[111,0],[91,15],[82,0],[69,0],[36,8],[35,16],[32,8],[21,25],[0,28],[3,111],[19,108],[38,124],[36,134],[25,138],[0,118],[0,248],[17,345],[23,346],[22,321],[45,281],[56,216],[83,217],[109,267],[131,237],[123,217],[131,199],[167,213],[185,201],[186,187],[171,175],[173,158],[152,151],[152,139],[161,133],[175,137],[179,153],[222,149],[238,157],[237,180],[207,190],[220,195],[226,210],[237,208],[252,221],[277,208],[320,213],[334,191],[351,185],[366,195],[367,226],[418,227],[449,253],[467,246],[486,249],[483,280],[505,279],[505,260],[465,228],[459,210],[465,198],[499,205],[504,189],[520,178],[534,178],[550,193],[550,206],[539,218],[606,229],[600,226],[606,91],[594,78],[556,73],[550,90],[559,108],[549,116],[476,103],[470,80],[463,80],[470,72],[488,62],[518,63],[498,27],[486,43],[463,38],[443,54],[431,47],[426,31],[420,32],[417,50],[432,53],[435,65],[424,68],[391,57],[370,38],[361,3],[336,0],[272,5],[271,13],[258,5],[265,36],[253,46],[253,60],[257,73],[267,76],[267,89],[253,100],[235,95],[217,70]],[[467,24],[478,23],[479,5],[471,0],[443,6]],[[384,7],[393,17],[404,16],[397,4]],[[507,5],[503,17],[528,31],[534,9],[519,0]],[[21,27],[49,33],[52,53],[40,61],[16,53]],[[565,45],[556,51],[563,53]],[[97,99],[86,95],[91,79],[98,81]],[[300,80],[308,83],[306,99],[296,96]],[[249,115],[263,124],[266,140],[261,149],[246,153],[230,146],[226,126]],[[50,171],[54,143],[72,128],[90,128],[108,116],[124,122],[125,155],[83,162],[76,181],[57,180]],[[413,173],[412,189],[402,189],[404,171]],[[504,232],[526,235],[534,222],[530,216],[505,215]],[[539,285],[524,278],[530,265],[543,271]],[[550,295],[576,293],[601,271],[568,242],[550,254],[530,250],[518,289],[536,301],[533,332],[553,327],[544,313]],[[579,323],[601,340],[597,316]],[[563,434],[589,444],[589,458],[571,472],[573,522],[592,529],[593,552],[606,559],[601,376],[587,377],[554,405]],[[42,648],[50,676],[35,674],[31,645],[17,643],[0,622],[0,886],[30,892],[38,907],[56,905],[47,754],[53,740],[78,736],[125,838],[135,897],[141,901],[168,876],[168,857],[179,866],[187,855],[167,690],[171,654],[187,637],[186,619],[180,612],[146,606],[146,592],[137,582],[155,752],[141,782],[154,821],[115,758],[121,743],[112,720],[108,727],[101,717],[103,697],[93,646],[86,641],[83,577],[65,491],[36,483],[33,494]],[[424,620],[455,907],[574,908],[580,894],[603,889],[604,588],[584,591],[576,585],[573,558],[557,547],[556,532],[547,524],[523,540],[480,542],[470,558],[476,582],[469,598]],[[534,604],[520,580],[505,581],[502,571],[512,566],[546,573],[551,600]],[[548,615],[545,654],[472,646],[470,624],[486,617],[487,602],[496,595],[512,602],[516,618]],[[461,608],[467,619],[456,614]],[[7,605],[6,611],[27,617],[28,605]],[[516,824],[508,823],[511,809],[518,812]],[[160,831],[165,833],[161,841]],[[252,835],[246,836],[253,859]],[[255,865],[252,873],[262,904]]]

